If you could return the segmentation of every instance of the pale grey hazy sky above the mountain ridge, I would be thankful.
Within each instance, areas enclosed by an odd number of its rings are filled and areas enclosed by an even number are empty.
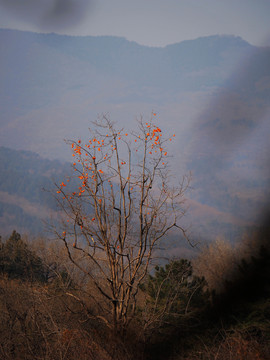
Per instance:
[[[213,34],[270,45],[270,0],[0,0],[0,27],[165,46]]]

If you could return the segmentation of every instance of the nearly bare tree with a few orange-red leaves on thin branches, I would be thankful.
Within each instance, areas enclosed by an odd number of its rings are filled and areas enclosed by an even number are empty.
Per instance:
[[[74,175],[57,186],[65,222],[56,234],[96,289],[98,316],[115,331],[134,318],[139,285],[159,241],[172,228],[185,235],[179,220],[189,177],[170,186],[165,146],[175,135],[165,138],[154,116],[149,123],[140,119],[131,134],[103,116],[86,144],[68,142]],[[69,190],[74,177],[78,188]]]

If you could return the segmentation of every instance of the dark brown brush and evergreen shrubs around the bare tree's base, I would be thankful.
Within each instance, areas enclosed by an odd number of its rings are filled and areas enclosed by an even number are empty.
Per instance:
[[[268,228],[157,266],[119,336],[62,242],[13,231],[0,239],[0,358],[268,360],[269,258]]]

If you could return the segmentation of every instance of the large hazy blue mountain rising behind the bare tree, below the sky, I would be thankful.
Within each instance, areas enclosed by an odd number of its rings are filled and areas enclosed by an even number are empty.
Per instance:
[[[83,137],[98,114],[134,128],[154,110],[159,125],[176,132],[179,177],[193,172],[195,233],[207,237],[210,224],[212,236],[225,229],[233,237],[232,227],[260,222],[270,198],[269,48],[234,36],[151,48],[15,30],[0,30],[0,45],[1,145],[70,160],[63,139]],[[2,169],[16,178],[7,163]]]

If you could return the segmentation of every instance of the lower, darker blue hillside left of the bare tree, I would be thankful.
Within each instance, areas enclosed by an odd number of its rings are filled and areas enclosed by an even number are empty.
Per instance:
[[[70,165],[43,159],[30,151],[0,148],[0,227],[40,233],[56,210],[53,183],[67,175]]]

